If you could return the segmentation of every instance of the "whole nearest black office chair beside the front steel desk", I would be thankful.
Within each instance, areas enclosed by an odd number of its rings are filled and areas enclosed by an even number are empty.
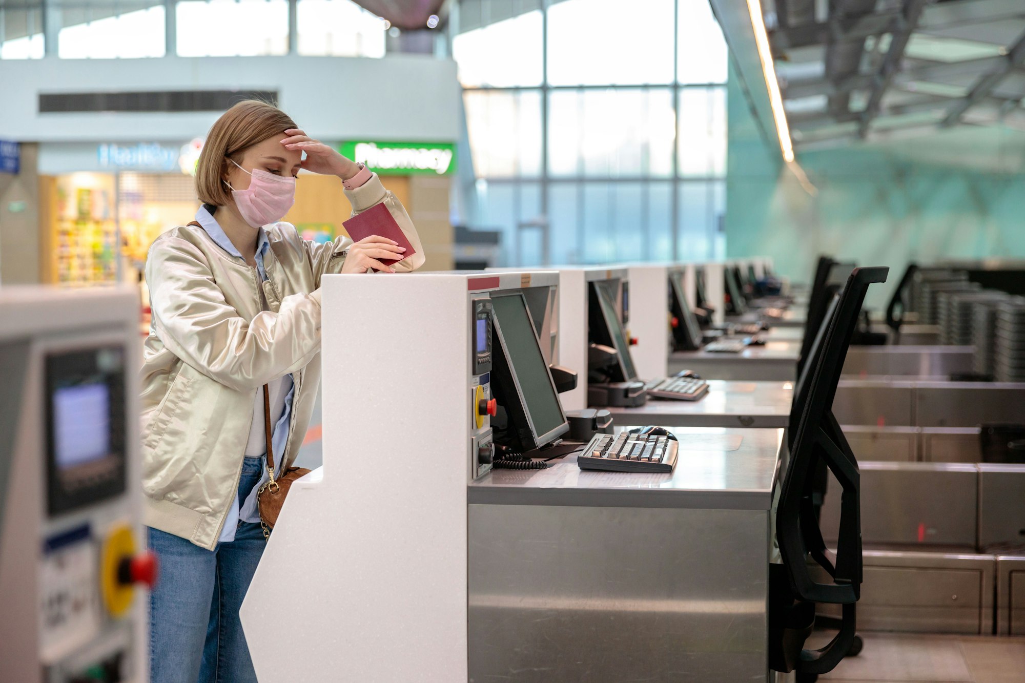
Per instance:
[[[828,326],[820,335],[814,364],[807,368],[807,396],[799,406],[794,445],[776,511],[776,537],[782,564],[769,567],[769,664],[774,671],[795,671],[799,682],[814,681],[847,656],[857,637],[861,595],[861,517],[858,461],[832,414],[851,334],[868,285],[886,282],[887,268],[857,268],[835,298]],[[796,397],[795,397],[796,398]],[[812,505],[819,460],[842,488],[836,553],[826,549]],[[832,578],[818,584],[808,556]],[[842,605],[839,632],[821,649],[804,649],[815,626],[815,604]]]

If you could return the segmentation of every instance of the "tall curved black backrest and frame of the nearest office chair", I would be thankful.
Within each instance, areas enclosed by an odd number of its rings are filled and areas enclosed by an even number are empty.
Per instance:
[[[807,396],[799,408],[801,417],[776,513],[776,537],[794,597],[845,605],[844,624],[836,638],[821,650],[802,653],[803,660],[817,661],[815,670],[819,673],[829,671],[847,653],[855,633],[854,603],[861,595],[858,461],[832,414],[832,402],[868,285],[886,282],[889,270],[854,269],[820,335],[819,349],[810,361],[813,365],[807,369]],[[842,489],[835,557],[826,550],[812,501],[814,474],[820,460],[829,468]],[[806,560],[809,554],[832,582],[819,584],[812,578]]]

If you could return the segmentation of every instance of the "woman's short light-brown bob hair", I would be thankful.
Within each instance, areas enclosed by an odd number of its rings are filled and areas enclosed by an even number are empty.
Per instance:
[[[210,128],[196,164],[196,194],[204,204],[232,203],[232,191],[224,185],[228,160],[239,162],[247,149],[272,135],[282,135],[295,122],[283,111],[255,99],[246,99],[220,115]]]

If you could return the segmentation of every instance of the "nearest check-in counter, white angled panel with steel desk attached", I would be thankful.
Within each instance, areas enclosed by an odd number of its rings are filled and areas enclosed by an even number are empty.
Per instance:
[[[784,430],[672,429],[667,474],[480,467],[476,307],[546,277],[325,277],[325,349],[361,362],[325,353],[324,466],[291,488],[240,611],[261,683],[774,680]],[[381,297],[412,336],[376,322]],[[397,358],[399,393],[368,391]],[[282,600],[296,576],[306,593]]]

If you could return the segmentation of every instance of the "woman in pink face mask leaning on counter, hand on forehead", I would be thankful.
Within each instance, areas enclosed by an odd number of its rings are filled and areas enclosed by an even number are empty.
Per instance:
[[[302,154],[305,153],[305,159]],[[416,253],[392,240],[302,240],[279,223],[300,168],[337,175],[354,214],[383,202]],[[416,231],[376,174],[309,137],[275,107],[225,112],[196,169],[196,220],[150,248],[153,325],[142,378],[145,521],[160,561],[152,595],[155,683],[255,681],[239,607],[263,551],[255,490],[272,448],[295,459],[320,383],[321,276],[423,263]]]

